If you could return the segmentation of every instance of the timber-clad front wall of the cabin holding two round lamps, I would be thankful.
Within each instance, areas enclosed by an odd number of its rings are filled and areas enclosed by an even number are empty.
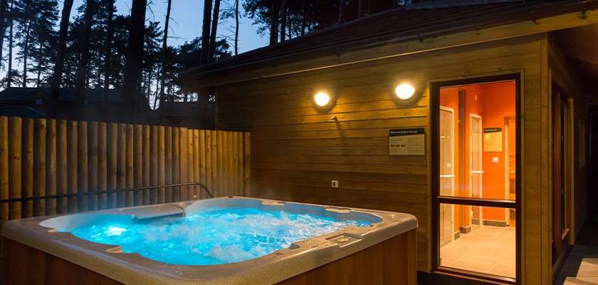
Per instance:
[[[431,264],[429,90],[409,108],[390,98],[399,79],[441,81],[522,73],[522,284],[548,284],[550,232],[545,210],[547,132],[545,40],[538,35],[385,58],[288,76],[219,86],[217,128],[251,131],[251,194],[255,197],[384,209],[414,214],[417,268]],[[337,103],[318,113],[315,87],[334,86]],[[331,120],[335,116],[335,120]],[[423,126],[424,156],[388,155],[391,128]],[[339,180],[338,188],[330,180]],[[548,239],[545,242],[545,239]]]

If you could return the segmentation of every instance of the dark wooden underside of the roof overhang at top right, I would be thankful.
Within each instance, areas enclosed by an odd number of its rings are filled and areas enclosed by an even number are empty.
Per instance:
[[[556,35],[584,87],[598,98],[598,24],[557,31]]]

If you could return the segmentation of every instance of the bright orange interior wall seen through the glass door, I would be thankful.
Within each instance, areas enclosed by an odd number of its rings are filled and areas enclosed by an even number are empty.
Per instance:
[[[464,108],[465,133],[463,134],[463,157],[459,157],[459,90],[466,91]],[[505,117],[515,115],[515,83],[486,83],[470,86],[442,88],[440,90],[440,105],[455,110],[454,146],[455,146],[455,195],[469,196],[469,150],[470,150],[470,114],[481,115],[483,128],[503,128],[503,152],[483,152],[483,198],[505,199]],[[512,132],[511,134],[513,134]],[[510,147],[514,150],[515,138]],[[493,157],[498,157],[498,163],[493,163]],[[465,173],[461,175],[460,166],[463,163]],[[469,207],[455,205],[455,231],[459,227],[467,227],[470,223]],[[483,219],[497,221],[505,220],[505,210],[498,208],[484,208]]]

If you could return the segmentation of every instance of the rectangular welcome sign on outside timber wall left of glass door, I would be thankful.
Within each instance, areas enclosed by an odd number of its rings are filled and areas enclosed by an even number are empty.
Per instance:
[[[425,155],[424,128],[393,129],[388,132],[389,155]]]

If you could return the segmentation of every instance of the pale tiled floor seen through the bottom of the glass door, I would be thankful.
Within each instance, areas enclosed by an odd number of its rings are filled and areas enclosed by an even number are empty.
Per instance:
[[[440,248],[441,265],[515,278],[515,227],[483,226]]]

